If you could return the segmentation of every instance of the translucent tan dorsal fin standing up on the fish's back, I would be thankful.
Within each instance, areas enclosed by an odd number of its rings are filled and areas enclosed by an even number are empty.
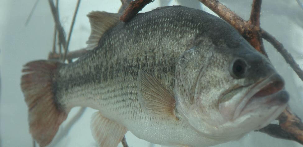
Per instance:
[[[87,49],[91,50],[98,46],[98,42],[103,33],[114,27],[120,21],[120,14],[104,11],[92,11],[87,16],[90,19],[91,33],[86,43]]]

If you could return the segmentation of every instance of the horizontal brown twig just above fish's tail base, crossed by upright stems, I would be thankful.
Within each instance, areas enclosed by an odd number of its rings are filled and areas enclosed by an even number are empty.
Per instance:
[[[75,58],[79,58],[80,56],[84,55],[87,52],[86,48],[82,48],[80,50],[76,50],[76,51],[69,51],[66,55],[66,59],[67,60],[72,60]],[[57,54],[57,53],[53,53],[50,52],[48,54],[48,59],[60,59],[61,58],[61,54]]]

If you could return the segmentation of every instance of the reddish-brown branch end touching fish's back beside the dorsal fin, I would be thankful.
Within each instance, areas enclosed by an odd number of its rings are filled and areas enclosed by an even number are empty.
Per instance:
[[[149,4],[150,2],[153,2],[153,0],[135,0],[131,1],[128,7],[123,12],[123,15],[120,17],[120,20],[123,22],[127,22],[131,20],[137,13],[142,10],[142,8]]]

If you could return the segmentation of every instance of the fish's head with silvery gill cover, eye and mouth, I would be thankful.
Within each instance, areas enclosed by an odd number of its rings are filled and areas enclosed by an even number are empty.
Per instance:
[[[186,50],[176,64],[174,93],[177,112],[195,130],[227,140],[267,126],[289,99],[283,78],[245,40]]]

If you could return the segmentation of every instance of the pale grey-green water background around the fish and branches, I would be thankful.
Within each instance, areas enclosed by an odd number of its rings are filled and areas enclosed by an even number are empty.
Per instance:
[[[0,98],[0,146],[32,147],[27,122],[27,107],[20,89],[22,65],[32,60],[46,59],[52,49],[54,22],[48,1],[40,0],[27,26],[25,21],[36,0],[0,1],[0,67],[1,67],[1,98]],[[163,0],[162,2],[168,2]],[[200,7],[195,0],[182,0],[184,3]],[[222,0],[223,4],[235,11],[244,19],[250,16],[252,0]],[[90,34],[90,25],[86,14],[90,11],[117,12],[120,0],[82,0],[76,18],[70,42],[70,50],[86,47]],[[179,5],[172,0],[168,5]],[[59,3],[60,20],[66,31],[69,30],[76,0],[61,0]],[[160,6],[160,0],[147,5],[143,11],[150,11]],[[202,6],[203,10],[209,9]],[[262,3],[261,27],[274,35],[294,56],[302,68],[303,64],[303,10],[296,0],[264,0]],[[68,32],[66,32],[68,33]],[[302,96],[303,82],[285,63],[280,54],[266,41],[265,49],[278,72],[286,80],[292,110],[303,118]],[[71,110],[68,118],[60,127],[59,134],[65,125],[78,112]],[[56,144],[59,147],[94,147],[96,143],[90,132],[90,117],[96,110],[86,109],[84,115],[71,128],[67,135]],[[126,133],[130,147],[158,147],[145,140],[138,139],[131,132]],[[121,147],[122,145],[119,144]],[[273,138],[260,132],[251,132],[242,139],[217,145],[216,147],[300,147],[289,140]]]

